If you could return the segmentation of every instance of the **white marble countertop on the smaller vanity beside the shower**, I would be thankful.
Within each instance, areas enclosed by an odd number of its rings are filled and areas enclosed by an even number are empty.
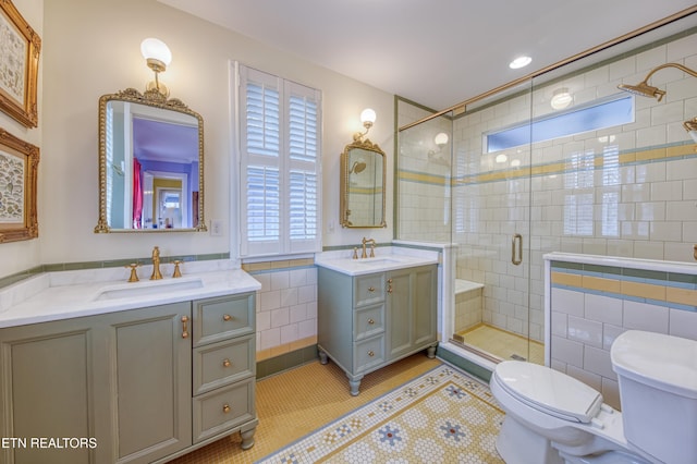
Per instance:
[[[387,246],[376,248],[372,258],[353,259],[353,251],[325,252],[315,256],[315,264],[347,276],[362,276],[438,264],[439,255],[438,252]],[[360,256],[360,251],[358,251],[358,256]]]

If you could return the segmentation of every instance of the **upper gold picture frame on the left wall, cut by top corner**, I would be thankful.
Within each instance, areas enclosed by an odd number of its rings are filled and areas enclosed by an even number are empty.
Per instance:
[[[10,0],[0,0],[0,110],[36,127],[41,38]]]

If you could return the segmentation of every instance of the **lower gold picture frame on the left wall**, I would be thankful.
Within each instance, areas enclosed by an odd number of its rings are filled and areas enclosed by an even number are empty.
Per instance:
[[[37,146],[0,129],[0,243],[39,236],[36,212],[38,164]]]

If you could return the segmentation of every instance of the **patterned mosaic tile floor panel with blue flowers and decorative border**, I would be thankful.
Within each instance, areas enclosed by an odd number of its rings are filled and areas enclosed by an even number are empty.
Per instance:
[[[488,386],[441,365],[258,463],[503,463]]]

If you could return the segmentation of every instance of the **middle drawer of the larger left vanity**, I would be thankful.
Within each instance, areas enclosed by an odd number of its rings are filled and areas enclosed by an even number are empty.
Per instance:
[[[194,394],[255,375],[254,334],[194,349]]]

